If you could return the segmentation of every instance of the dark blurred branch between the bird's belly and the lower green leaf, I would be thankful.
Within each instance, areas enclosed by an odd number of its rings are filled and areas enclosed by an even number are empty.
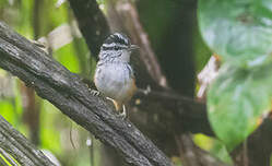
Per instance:
[[[139,98],[141,99],[140,104],[135,104]],[[162,128],[165,128],[166,131],[173,129],[175,134],[190,132],[214,137],[208,120],[206,106],[204,103],[180,96],[168,90],[151,90],[149,94],[139,91],[133,97],[131,105],[147,111],[151,117],[154,115],[158,117],[159,120],[147,121],[147,126],[150,127],[159,129],[163,124]],[[161,131],[164,130],[161,129]]]

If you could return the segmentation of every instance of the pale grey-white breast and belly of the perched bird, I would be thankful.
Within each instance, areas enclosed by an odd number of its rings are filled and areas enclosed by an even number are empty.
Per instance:
[[[117,100],[126,99],[133,82],[133,71],[128,63],[99,66],[95,76],[97,90]]]

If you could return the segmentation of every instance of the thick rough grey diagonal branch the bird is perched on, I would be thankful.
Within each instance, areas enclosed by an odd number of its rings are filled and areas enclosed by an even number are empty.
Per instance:
[[[81,79],[0,22],[0,67],[19,76],[64,115],[115,147],[130,165],[169,166],[170,161],[131,122],[121,120]]]

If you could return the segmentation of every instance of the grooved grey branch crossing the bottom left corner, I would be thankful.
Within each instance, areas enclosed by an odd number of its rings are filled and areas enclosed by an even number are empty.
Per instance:
[[[36,150],[20,132],[13,129],[1,116],[0,154],[3,156],[11,155],[22,166],[55,165],[40,151]],[[7,158],[7,161],[14,163],[11,158]]]

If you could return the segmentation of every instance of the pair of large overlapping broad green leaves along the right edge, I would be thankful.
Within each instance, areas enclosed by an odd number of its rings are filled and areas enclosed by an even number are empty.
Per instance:
[[[271,110],[272,1],[200,0],[200,29],[223,67],[208,94],[210,122],[230,151]]]

